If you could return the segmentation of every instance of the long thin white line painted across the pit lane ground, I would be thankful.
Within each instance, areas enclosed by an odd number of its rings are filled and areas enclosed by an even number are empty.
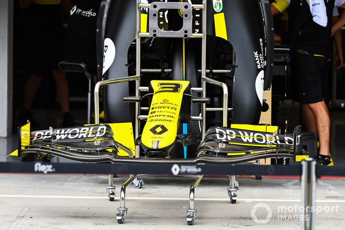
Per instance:
[[[0,195],[0,197],[14,197],[14,198],[58,198],[58,199],[107,199],[108,197],[83,197],[83,196],[41,196],[41,195]],[[115,197],[120,199],[120,197]],[[189,198],[183,197],[126,197],[126,199],[137,200],[189,200]],[[228,201],[229,198],[195,198],[195,200],[206,201]],[[265,202],[301,202],[300,199],[251,199],[251,198],[238,198],[238,201],[253,202],[253,201],[265,201]],[[345,203],[345,200],[335,199],[316,199],[316,202],[324,203]]]

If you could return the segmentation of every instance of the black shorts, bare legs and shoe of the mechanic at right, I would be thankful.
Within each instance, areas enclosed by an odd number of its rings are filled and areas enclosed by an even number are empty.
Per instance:
[[[319,139],[317,162],[332,163],[329,153],[330,118],[322,96],[321,72],[324,58],[295,53],[292,58],[295,96],[301,103],[301,121],[304,130],[316,132]],[[296,97],[297,98],[297,97]]]

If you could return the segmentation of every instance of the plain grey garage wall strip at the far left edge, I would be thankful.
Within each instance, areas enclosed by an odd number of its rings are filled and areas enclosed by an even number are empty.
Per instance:
[[[0,0],[0,137],[12,134],[13,0]]]

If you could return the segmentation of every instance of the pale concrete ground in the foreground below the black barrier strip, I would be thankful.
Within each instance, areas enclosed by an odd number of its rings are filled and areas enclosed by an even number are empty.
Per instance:
[[[125,180],[126,176],[114,178],[117,196]],[[301,215],[299,178],[264,177],[260,181],[238,177],[240,189],[236,204],[231,204],[227,195],[227,178],[204,178],[195,193],[198,212],[193,226],[188,226],[185,218],[193,179],[154,177],[144,181],[141,189],[128,187],[128,215],[125,223],[119,225],[115,213],[120,203],[118,197],[115,201],[106,197],[107,175],[3,173],[0,174],[0,229],[301,228],[301,222],[296,220]],[[315,215],[315,229],[344,229],[345,180],[319,179],[316,200],[319,213]],[[255,223],[253,214],[255,220],[268,222]]]

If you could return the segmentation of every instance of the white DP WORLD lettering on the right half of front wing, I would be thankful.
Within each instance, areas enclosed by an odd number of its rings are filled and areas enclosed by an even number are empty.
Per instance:
[[[217,129],[216,138],[222,141],[232,141],[235,138],[241,138],[243,142],[246,143],[258,143],[258,144],[286,144],[293,145],[293,138],[290,136],[283,136],[284,139],[280,139],[278,135],[270,133],[252,132],[252,131],[235,131],[228,129]]]

